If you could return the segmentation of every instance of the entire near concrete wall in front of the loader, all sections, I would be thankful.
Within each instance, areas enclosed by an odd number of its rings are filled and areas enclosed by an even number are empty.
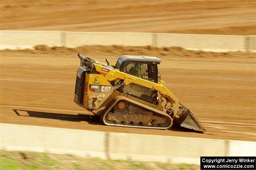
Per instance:
[[[200,164],[200,156],[255,156],[256,142],[125,134],[1,123],[0,149]]]

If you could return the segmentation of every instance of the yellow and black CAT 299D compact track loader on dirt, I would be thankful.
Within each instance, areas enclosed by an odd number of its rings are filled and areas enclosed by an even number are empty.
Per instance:
[[[174,121],[206,133],[194,113],[164,86],[159,58],[123,55],[112,66],[107,59],[104,64],[80,53],[78,57],[74,102],[105,125],[167,129]]]

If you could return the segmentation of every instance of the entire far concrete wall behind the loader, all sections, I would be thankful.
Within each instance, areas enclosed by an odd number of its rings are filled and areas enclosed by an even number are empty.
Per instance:
[[[81,45],[179,46],[203,51],[256,52],[256,36],[165,34],[136,32],[0,31],[0,49],[33,48],[35,45],[77,47]]]

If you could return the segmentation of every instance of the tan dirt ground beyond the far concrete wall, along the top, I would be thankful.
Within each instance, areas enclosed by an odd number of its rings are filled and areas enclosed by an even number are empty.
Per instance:
[[[255,0],[1,0],[2,30],[256,35]]]

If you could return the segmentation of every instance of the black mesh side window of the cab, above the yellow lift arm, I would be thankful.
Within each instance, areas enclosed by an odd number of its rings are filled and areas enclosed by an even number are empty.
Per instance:
[[[154,82],[153,63],[130,63],[125,66],[124,73]]]

